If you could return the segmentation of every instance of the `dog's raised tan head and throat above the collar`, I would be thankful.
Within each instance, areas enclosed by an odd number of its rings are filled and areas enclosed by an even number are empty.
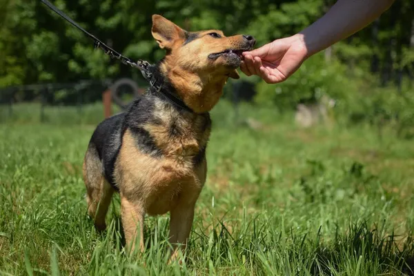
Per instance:
[[[152,16],[152,37],[166,49],[161,73],[195,112],[211,110],[229,77],[239,79],[242,52],[252,50],[250,35],[226,37],[220,30],[187,32],[160,15]]]

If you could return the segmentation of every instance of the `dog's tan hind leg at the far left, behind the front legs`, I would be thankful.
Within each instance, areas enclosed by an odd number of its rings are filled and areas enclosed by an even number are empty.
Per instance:
[[[105,230],[105,217],[115,190],[103,177],[101,160],[93,144],[89,145],[83,160],[83,181],[88,215],[94,219],[97,230]]]

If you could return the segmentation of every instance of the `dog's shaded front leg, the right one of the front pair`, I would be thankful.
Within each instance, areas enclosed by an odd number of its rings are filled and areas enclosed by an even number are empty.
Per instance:
[[[188,236],[193,226],[195,204],[177,206],[170,212],[170,239],[172,250],[170,260],[175,261],[178,257],[179,249],[186,249]]]

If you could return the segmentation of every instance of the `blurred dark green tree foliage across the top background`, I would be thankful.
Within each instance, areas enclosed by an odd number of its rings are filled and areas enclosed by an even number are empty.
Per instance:
[[[0,74],[1,86],[132,75],[128,68],[111,63],[103,55],[92,54],[91,41],[40,1],[1,0],[0,3],[0,15],[4,15],[0,19],[0,70],[4,70]],[[54,3],[116,50],[134,59],[155,61],[159,51],[150,34],[151,14],[163,14],[188,30],[218,28],[226,34],[248,32],[256,37],[260,46],[306,28],[333,1],[57,0]],[[395,5],[394,11],[400,12],[395,26],[387,24],[394,20],[391,12],[384,14],[375,45],[372,45],[370,27],[338,45],[335,55],[345,63],[357,61],[360,67],[362,60],[369,63],[370,49],[374,49],[385,61],[387,42],[397,37],[404,57],[411,56],[412,48],[407,41],[411,32],[406,26],[411,26],[412,8],[408,0]],[[411,59],[404,59],[402,66],[409,67],[411,63]]]

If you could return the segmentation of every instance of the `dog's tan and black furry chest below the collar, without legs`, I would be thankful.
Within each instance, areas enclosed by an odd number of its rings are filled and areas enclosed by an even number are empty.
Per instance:
[[[205,181],[209,135],[208,115],[155,110],[124,133],[115,170],[121,193],[140,198],[154,215],[198,195]]]

